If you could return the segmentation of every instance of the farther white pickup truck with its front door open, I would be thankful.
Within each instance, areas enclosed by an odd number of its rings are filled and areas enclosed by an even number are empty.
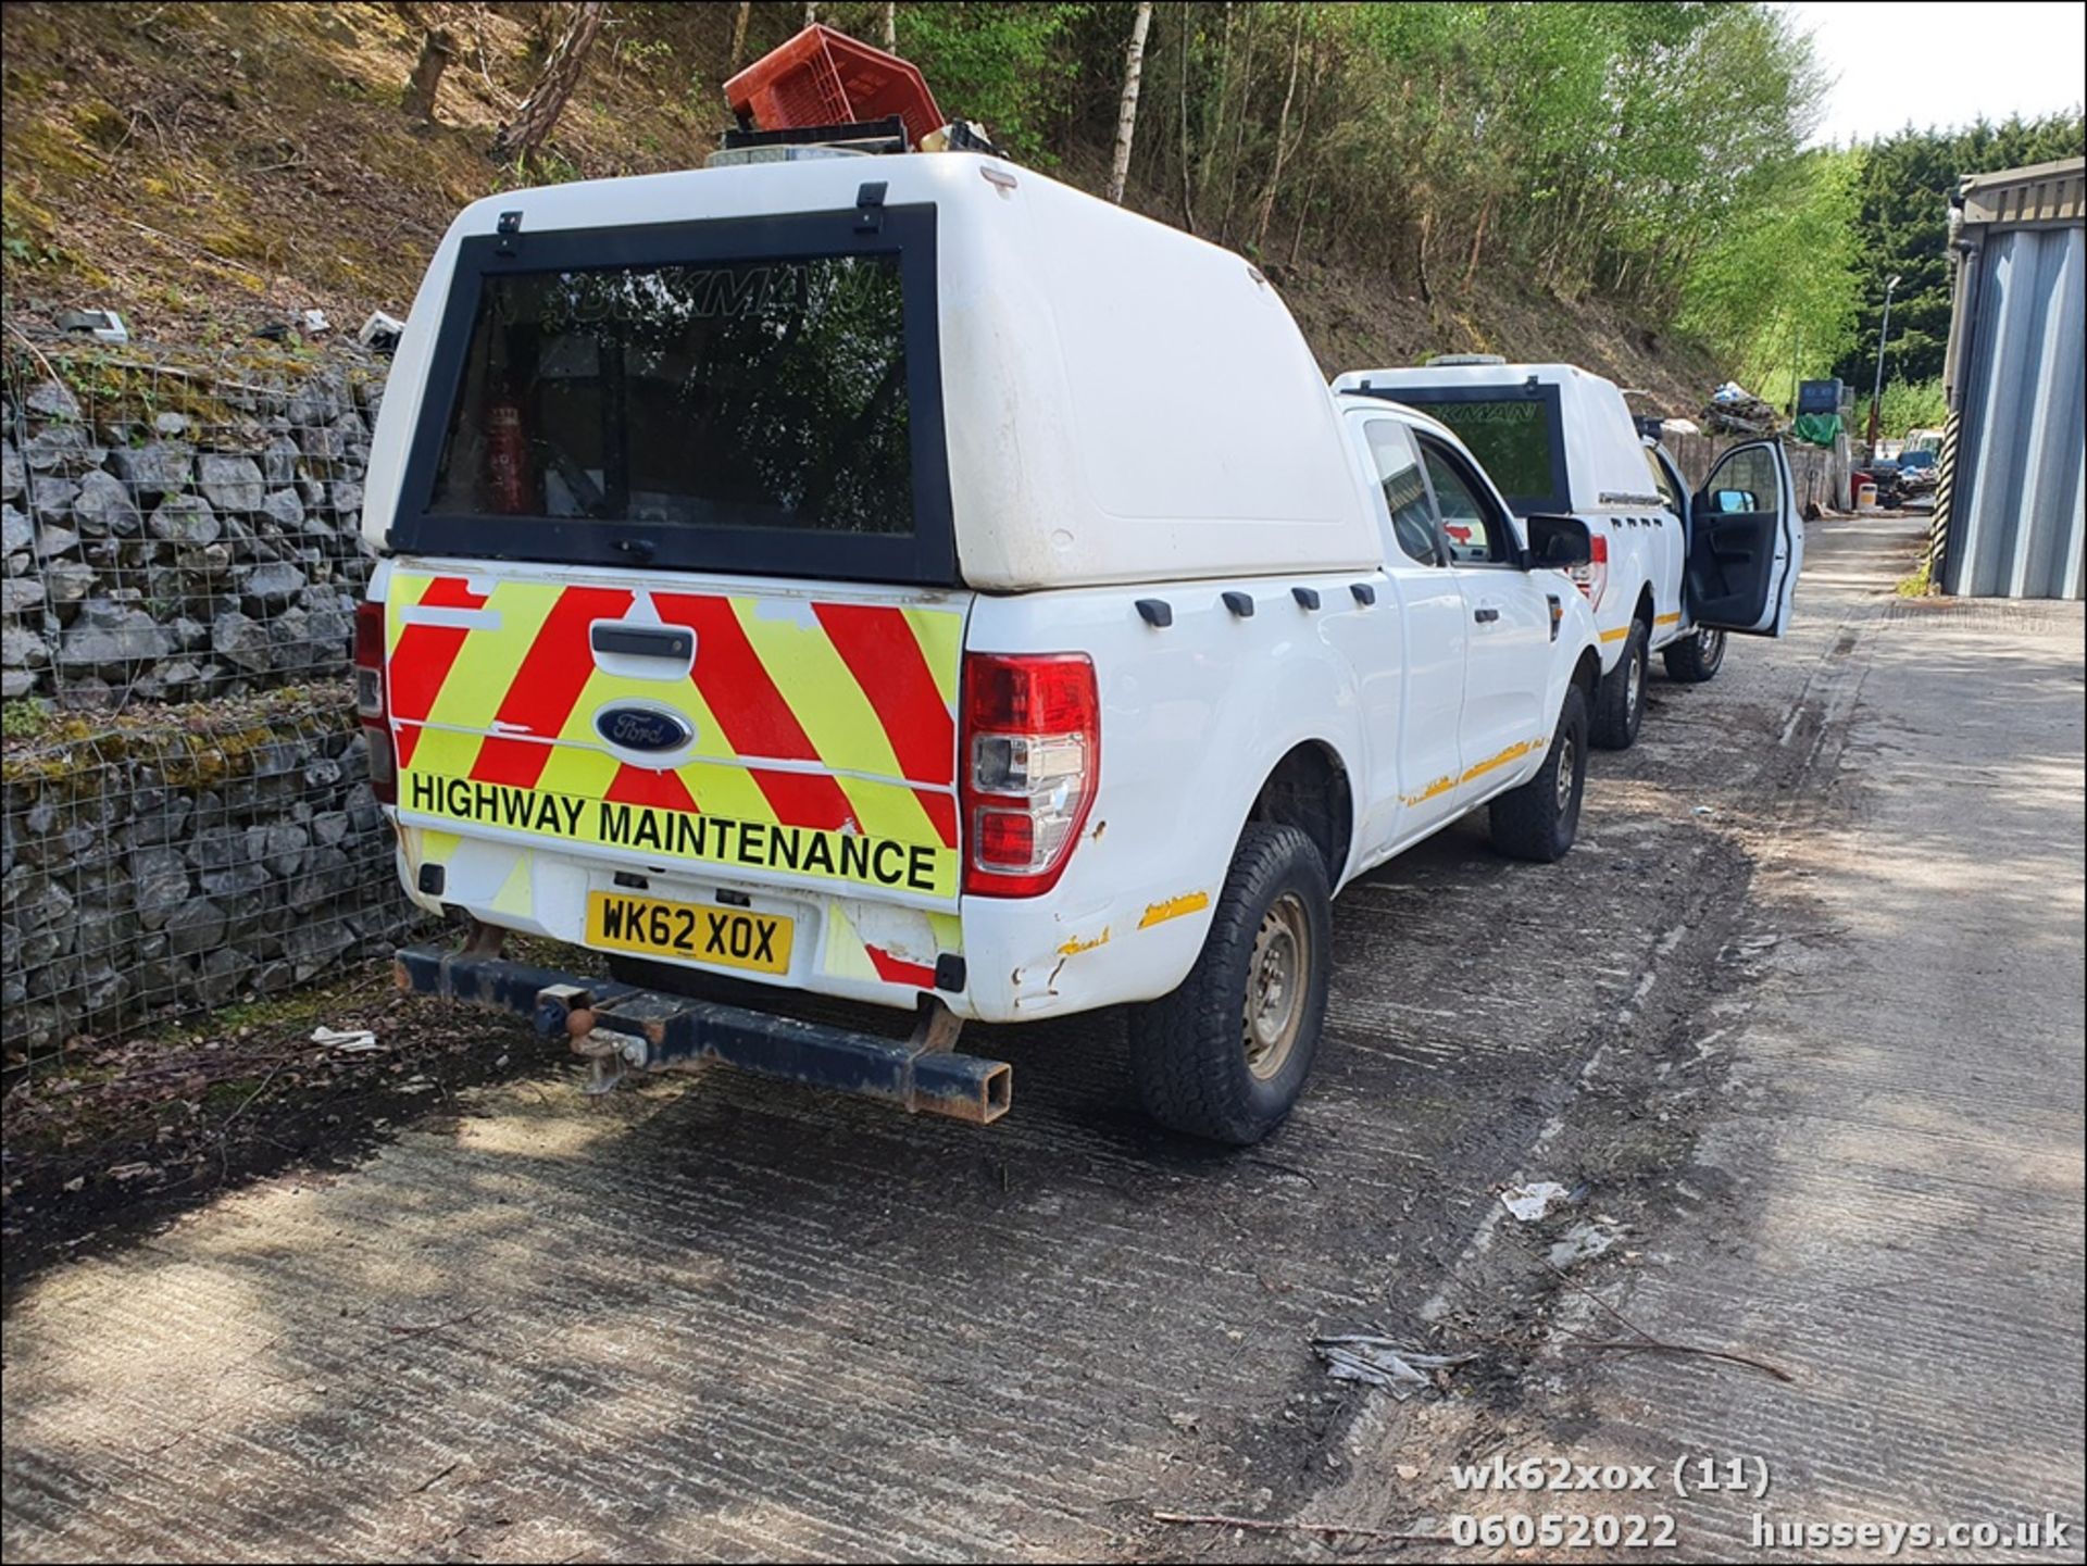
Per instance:
[[[1805,528],[1780,442],[1732,446],[1690,494],[1615,384],[1576,365],[1453,354],[1350,371],[1334,386],[1432,413],[1463,436],[1517,515],[1588,523],[1594,559],[1580,576],[1603,671],[1594,744],[1622,751],[1638,738],[1653,653],[1670,678],[1701,682],[1724,663],[1726,632],[1789,630]],[[1450,523],[1453,538],[1459,528]]]

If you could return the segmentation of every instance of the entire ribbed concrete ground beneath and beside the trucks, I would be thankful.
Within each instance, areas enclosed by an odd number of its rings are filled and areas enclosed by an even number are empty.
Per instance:
[[[2081,613],[1901,605],[1903,528],[1816,525],[1797,636],[1655,682],[1561,865],[1461,826],[1350,888],[1263,1147],[1146,1128],[1106,1016],[977,1041],[991,1130],[488,1088],[23,1287],[0,1547],[1484,1558],[1444,1535],[1551,1512],[1876,1560],[1751,1518],[2056,1512],[2010,1558],[2077,1560]],[[1476,1357],[1394,1403],[1327,1330]],[[1455,1487],[1494,1455],[1668,1487]],[[1772,1487],[1678,1499],[1682,1455]]]

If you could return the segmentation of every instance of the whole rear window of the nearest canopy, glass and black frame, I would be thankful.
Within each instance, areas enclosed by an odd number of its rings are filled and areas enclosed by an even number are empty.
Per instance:
[[[933,234],[922,206],[467,240],[392,544],[954,582]]]

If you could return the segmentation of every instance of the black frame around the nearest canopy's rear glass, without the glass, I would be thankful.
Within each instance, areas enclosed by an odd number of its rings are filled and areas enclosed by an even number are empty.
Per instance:
[[[868,211],[874,211],[874,223],[864,221],[866,209],[843,209],[465,238],[457,246],[457,269],[428,359],[419,423],[407,448],[401,505],[384,532],[386,548],[486,561],[958,586],[941,400],[935,204]],[[858,254],[895,254],[899,261],[914,509],[910,536],[432,509],[488,277]]]

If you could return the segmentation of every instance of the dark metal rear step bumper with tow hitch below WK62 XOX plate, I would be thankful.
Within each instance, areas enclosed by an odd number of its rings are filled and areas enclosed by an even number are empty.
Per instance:
[[[881,1099],[985,1126],[1008,1111],[1014,1068],[818,1022],[580,978],[472,951],[405,947],[399,988],[530,1018],[597,1061],[662,1072],[722,1061],[758,1076]]]

